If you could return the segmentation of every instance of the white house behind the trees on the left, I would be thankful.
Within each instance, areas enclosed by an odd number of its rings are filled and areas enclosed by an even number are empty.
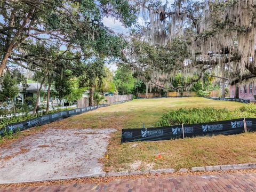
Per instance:
[[[23,92],[23,86],[22,84],[19,84],[19,94],[18,97],[15,98],[15,103],[25,103],[26,98],[36,98],[37,91],[39,90],[39,87],[41,83],[27,83],[28,87],[26,89],[26,92]],[[48,85],[43,85],[40,93],[40,98],[39,98],[39,105],[46,104],[46,99],[47,99],[47,89]],[[30,104],[29,101],[28,105]],[[50,97],[50,102],[52,102],[52,98]]]

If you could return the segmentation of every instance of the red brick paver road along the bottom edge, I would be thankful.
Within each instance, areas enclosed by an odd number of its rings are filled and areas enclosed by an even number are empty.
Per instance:
[[[214,175],[171,175],[152,178],[116,179],[109,183],[70,183],[62,185],[0,188],[4,191],[256,191],[256,173]]]

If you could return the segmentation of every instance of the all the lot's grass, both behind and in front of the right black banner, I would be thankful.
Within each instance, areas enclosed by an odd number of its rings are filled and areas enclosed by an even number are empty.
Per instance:
[[[40,131],[49,127],[118,129],[110,140],[105,158],[101,159],[105,164],[106,171],[165,167],[179,169],[181,167],[256,162],[256,133],[158,142],[133,142],[121,145],[122,128],[142,127],[142,122],[146,127],[153,127],[158,119],[169,110],[181,107],[215,107],[235,110],[243,105],[246,104],[204,98],[141,99],[100,108],[44,125],[35,130]],[[34,131],[31,130],[31,132]]]

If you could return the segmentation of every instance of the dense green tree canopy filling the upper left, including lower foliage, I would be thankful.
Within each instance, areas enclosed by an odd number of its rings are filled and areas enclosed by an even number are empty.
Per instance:
[[[85,74],[101,79],[98,72],[104,66],[92,70],[87,63],[122,56],[127,43],[103,18],[117,19],[125,27],[137,18],[137,9],[126,0],[2,0],[0,6],[0,77],[17,68],[33,71],[37,82],[49,85],[49,93],[54,85],[60,99],[81,95],[71,79]]]

